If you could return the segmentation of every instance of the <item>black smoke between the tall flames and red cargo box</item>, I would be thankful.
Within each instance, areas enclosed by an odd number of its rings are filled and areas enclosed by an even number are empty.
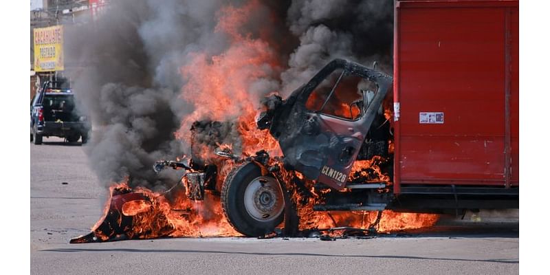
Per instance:
[[[300,45],[281,75],[285,93],[307,82],[333,58],[365,65],[377,61],[391,72],[393,1],[292,1],[287,22]]]

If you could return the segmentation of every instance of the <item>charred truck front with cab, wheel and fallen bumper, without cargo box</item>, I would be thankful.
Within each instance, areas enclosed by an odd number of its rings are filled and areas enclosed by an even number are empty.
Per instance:
[[[338,80],[331,87],[322,108],[318,111],[308,109],[306,103],[311,93],[337,70]],[[349,104],[349,113],[353,113],[352,108],[358,108],[354,118],[342,119],[323,113],[338,84],[347,76],[372,83],[370,87],[374,91],[361,90],[360,99]],[[275,235],[306,236],[310,230],[298,230],[298,209],[305,207],[312,198],[318,202],[313,210],[383,210],[391,194],[375,170],[366,167],[356,171],[357,175],[349,174],[353,162],[358,159],[371,159],[377,155],[379,158],[373,160],[373,164],[384,166],[391,163],[389,123],[380,111],[391,83],[392,78],[386,74],[336,59],[286,100],[278,95],[265,98],[265,111],[259,115],[257,126],[269,129],[278,140],[283,157],[271,157],[265,150],[248,157],[234,154],[234,144],[221,145],[232,139],[234,124],[197,121],[190,129],[190,159],[159,160],[153,165],[156,173],[165,168],[184,170],[181,180],[163,196],[169,201],[175,201],[181,195],[200,201],[206,192],[220,196],[225,217],[246,236],[270,236],[283,220],[284,229]],[[226,164],[233,168],[221,182],[219,173]],[[323,168],[326,170],[324,174],[321,173]],[[151,201],[129,188],[113,190],[109,211],[103,221],[90,234],[71,242],[147,236],[132,234],[136,217],[122,211],[124,203],[135,200]],[[159,228],[162,228],[159,236],[168,236],[173,230],[169,224]],[[353,230],[355,234],[366,232],[357,228],[344,229]]]

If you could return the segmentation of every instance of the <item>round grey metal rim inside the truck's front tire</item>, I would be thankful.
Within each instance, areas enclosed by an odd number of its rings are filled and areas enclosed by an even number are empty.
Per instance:
[[[245,208],[256,221],[273,221],[285,208],[283,190],[273,177],[256,177],[246,187]]]

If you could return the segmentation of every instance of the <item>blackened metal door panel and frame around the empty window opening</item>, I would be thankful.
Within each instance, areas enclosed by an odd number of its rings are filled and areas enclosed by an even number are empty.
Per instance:
[[[342,73],[321,109],[308,109],[306,102],[311,93],[336,70]],[[376,88],[376,91],[362,90],[361,99],[353,102],[360,109],[360,116],[354,120],[342,120],[323,113],[342,76],[358,76],[369,80]],[[384,124],[380,123],[383,116],[379,110],[391,85],[391,76],[357,63],[336,59],[286,100],[278,96],[267,98],[264,102],[267,111],[259,116],[258,126],[260,129],[269,129],[278,140],[285,155],[283,162],[287,170],[296,170],[307,179],[318,180],[322,167],[327,165],[347,175],[358,155],[365,159],[373,155],[387,155],[387,138],[384,139],[384,134],[382,137],[377,136],[375,142],[367,140],[367,143],[364,134],[369,132],[375,120],[377,129]],[[338,190],[345,187],[345,182],[336,179],[325,178],[323,183]]]

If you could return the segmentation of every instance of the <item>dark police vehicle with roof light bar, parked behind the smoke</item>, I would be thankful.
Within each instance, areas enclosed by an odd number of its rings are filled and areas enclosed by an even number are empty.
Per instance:
[[[67,81],[46,81],[30,103],[30,141],[42,144],[42,137],[65,137],[68,142],[88,141],[91,124],[78,113]]]

